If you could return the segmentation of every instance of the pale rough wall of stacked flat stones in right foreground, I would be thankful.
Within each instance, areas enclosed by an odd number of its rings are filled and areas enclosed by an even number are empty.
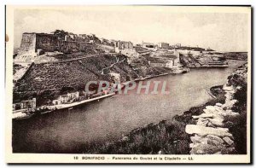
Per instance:
[[[235,113],[232,107],[237,100],[234,94],[247,81],[247,65],[239,67],[236,72],[228,78],[224,84],[225,92],[224,104],[216,103],[214,106],[207,106],[204,113],[192,116],[196,125],[186,125],[185,131],[190,136],[190,154],[234,154],[236,151],[234,136],[229,128],[225,128],[224,120],[229,117],[237,117],[240,113]],[[242,82],[243,81],[243,82]]]

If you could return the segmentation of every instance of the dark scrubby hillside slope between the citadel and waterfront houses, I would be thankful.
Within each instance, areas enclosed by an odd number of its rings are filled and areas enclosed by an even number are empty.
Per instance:
[[[113,67],[108,68],[111,65]],[[14,101],[36,97],[39,106],[61,95],[64,90],[84,90],[89,81],[111,81],[107,72],[102,74],[103,68],[107,68],[108,72],[119,73],[121,82],[137,78],[124,55],[96,55],[80,60],[35,64],[15,84]]]

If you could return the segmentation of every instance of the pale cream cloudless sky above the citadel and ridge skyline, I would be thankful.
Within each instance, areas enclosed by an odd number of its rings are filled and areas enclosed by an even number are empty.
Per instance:
[[[247,51],[249,18],[244,13],[190,12],[150,7],[15,9],[15,48],[23,32],[94,33],[132,43],[181,43],[218,51]]]

